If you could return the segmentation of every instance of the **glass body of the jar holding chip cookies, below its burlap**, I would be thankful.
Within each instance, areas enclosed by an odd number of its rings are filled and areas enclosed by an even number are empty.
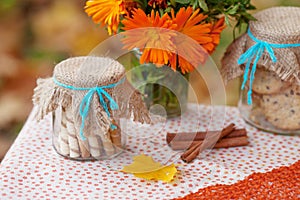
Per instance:
[[[248,86],[241,91],[239,110],[255,127],[278,134],[300,134],[300,86],[281,80],[275,72],[258,68],[252,85],[252,104],[247,103]]]

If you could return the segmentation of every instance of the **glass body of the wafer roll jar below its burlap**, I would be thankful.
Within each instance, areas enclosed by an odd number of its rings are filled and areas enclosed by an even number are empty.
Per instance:
[[[73,160],[111,159],[123,152],[126,137],[117,126],[105,134],[91,134],[86,140],[79,137],[78,130],[68,119],[65,109],[59,107],[53,112],[53,146],[56,152]]]

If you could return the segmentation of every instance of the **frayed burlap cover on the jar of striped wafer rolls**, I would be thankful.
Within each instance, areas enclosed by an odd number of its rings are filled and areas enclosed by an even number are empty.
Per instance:
[[[42,119],[49,112],[54,111],[58,106],[72,112],[77,133],[81,125],[79,107],[87,90],[71,90],[56,85],[53,78],[62,84],[74,86],[76,88],[93,88],[96,86],[106,86],[119,82],[125,78],[125,69],[117,61],[104,57],[74,57],[57,64],[53,77],[39,79],[34,90],[33,103],[38,107],[37,118]],[[148,110],[142,101],[141,95],[130,83],[125,81],[118,86],[105,89],[117,102],[119,109],[112,111],[109,118],[103,106],[100,104],[98,94],[93,95],[88,116],[85,120],[85,136],[93,132],[106,134],[110,128],[112,119],[117,117],[134,116],[135,121],[142,123],[150,122]],[[105,101],[109,107],[110,102]],[[95,128],[96,127],[96,128]]]

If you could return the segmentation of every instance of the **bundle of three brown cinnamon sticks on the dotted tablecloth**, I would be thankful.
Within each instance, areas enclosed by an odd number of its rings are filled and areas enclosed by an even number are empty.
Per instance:
[[[167,133],[166,141],[173,150],[186,149],[181,159],[189,163],[207,148],[246,146],[248,137],[246,129],[237,129],[231,123],[220,131]]]

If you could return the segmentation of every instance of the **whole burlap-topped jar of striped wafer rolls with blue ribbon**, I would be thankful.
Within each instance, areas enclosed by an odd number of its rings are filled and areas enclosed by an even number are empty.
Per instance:
[[[118,155],[126,141],[120,118],[150,122],[124,67],[104,57],[74,57],[57,64],[51,78],[38,79],[33,103],[38,120],[54,113],[56,151],[77,160]]]

